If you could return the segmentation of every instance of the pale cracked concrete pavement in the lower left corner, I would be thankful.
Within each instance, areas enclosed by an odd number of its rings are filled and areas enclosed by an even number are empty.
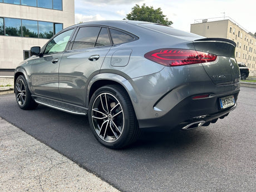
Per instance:
[[[119,190],[0,117],[0,191]]]

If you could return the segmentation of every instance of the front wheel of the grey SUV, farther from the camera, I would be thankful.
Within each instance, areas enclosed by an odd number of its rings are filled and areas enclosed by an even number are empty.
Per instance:
[[[38,105],[31,97],[31,92],[23,75],[18,76],[15,82],[15,96],[18,106],[23,110],[35,109]]]

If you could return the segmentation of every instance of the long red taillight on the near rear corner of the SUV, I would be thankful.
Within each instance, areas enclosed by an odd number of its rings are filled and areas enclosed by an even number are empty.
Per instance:
[[[195,50],[163,48],[146,53],[145,58],[164,66],[181,66],[215,61],[217,56]]]

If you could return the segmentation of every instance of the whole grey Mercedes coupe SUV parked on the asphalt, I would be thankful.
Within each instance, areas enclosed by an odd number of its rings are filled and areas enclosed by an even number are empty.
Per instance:
[[[222,119],[240,90],[235,43],[139,21],[63,29],[15,70],[21,109],[38,104],[87,115],[104,146],[119,149],[141,129],[190,130]]]

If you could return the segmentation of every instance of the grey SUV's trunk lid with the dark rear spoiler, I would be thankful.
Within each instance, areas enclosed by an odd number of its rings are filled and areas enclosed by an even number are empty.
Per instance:
[[[203,51],[217,55],[214,62],[203,63],[205,72],[215,85],[229,85],[238,83],[240,73],[235,60],[234,41],[224,38],[203,38],[194,41],[196,51]]]

